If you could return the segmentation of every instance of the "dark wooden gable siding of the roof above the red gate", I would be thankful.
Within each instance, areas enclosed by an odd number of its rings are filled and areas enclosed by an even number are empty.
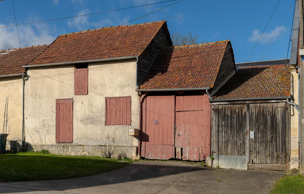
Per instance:
[[[214,86],[212,87],[212,91],[218,89],[221,84],[223,84],[225,80],[228,79],[229,76],[232,75],[235,71],[236,69],[232,47],[230,44],[227,44],[223,61],[219,67],[219,72],[217,73]]]

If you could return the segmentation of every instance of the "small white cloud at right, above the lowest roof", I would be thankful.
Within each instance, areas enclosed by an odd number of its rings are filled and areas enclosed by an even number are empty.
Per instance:
[[[262,36],[260,30],[254,29],[254,31],[252,31],[252,35],[249,37],[248,40],[250,42],[256,42],[261,36],[259,42],[261,42],[262,44],[266,44],[271,40],[272,36],[274,36],[272,40],[275,40],[275,38],[277,38],[283,28],[283,26],[277,26],[275,27],[275,29],[271,30],[271,32],[264,32]],[[285,29],[283,30],[283,32],[284,31]]]

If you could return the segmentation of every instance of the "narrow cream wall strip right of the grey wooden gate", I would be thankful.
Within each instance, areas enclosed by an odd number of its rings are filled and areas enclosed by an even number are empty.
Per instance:
[[[290,73],[293,75],[293,97],[295,99],[294,103],[298,103],[298,73],[296,72],[295,66],[291,66]],[[292,84],[292,76],[291,76]],[[292,94],[292,85],[291,85]],[[294,112],[294,113],[293,113]],[[299,152],[298,152],[298,111],[294,108],[292,111],[291,107],[291,122],[290,122],[290,136],[291,136],[291,154],[290,154],[290,169],[299,168]],[[294,115],[293,115],[294,114]]]

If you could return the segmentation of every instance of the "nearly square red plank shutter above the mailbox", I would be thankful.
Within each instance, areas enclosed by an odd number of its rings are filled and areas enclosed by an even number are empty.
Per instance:
[[[105,98],[105,125],[131,125],[131,96]]]

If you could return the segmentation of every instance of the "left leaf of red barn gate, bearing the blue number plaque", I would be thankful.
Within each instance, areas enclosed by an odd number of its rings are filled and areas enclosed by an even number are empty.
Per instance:
[[[142,110],[141,156],[174,158],[174,96],[147,96]]]

